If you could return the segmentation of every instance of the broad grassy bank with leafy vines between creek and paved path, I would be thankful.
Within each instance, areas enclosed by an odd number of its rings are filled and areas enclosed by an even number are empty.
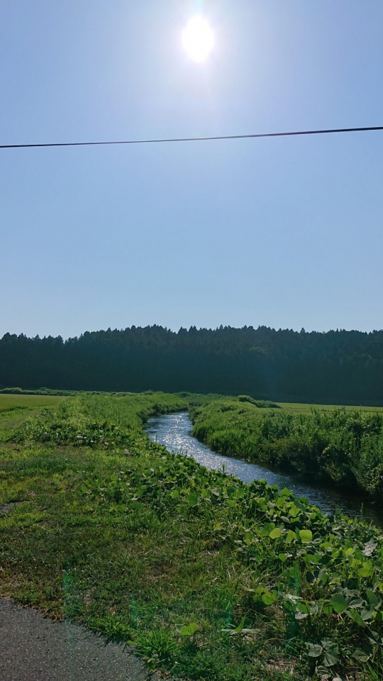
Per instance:
[[[148,416],[190,402],[71,397],[1,420],[0,594],[131,641],[174,677],[377,681],[379,531],[148,440]]]

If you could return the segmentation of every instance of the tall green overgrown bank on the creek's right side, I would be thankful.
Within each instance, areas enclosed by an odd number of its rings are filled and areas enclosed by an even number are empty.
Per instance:
[[[235,399],[191,412],[193,434],[213,450],[359,489],[382,503],[383,414],[350,409],[257,409]]]

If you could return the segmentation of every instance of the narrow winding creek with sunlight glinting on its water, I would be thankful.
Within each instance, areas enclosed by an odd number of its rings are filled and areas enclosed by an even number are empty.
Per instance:
[[[149,419],[146,432],[151,440],[165,445],[167,450],[191,456],[209,470],[222,470],[224,466],[228,475],[235,475],[247,484],[252,480],[263,478],[268,485],[278,485],[280,489],[287,487],[296,497],[306,497],[311,504],[319,506],[327,514],[333,514],[335,509],[340,509],[349,516],[357,516],[383,527],[383,509],[363,502],[355,494],[341,494],[335,489],[313,487],[297,480],[293,475],[275,472],[265,466],[217,454],[191,436],[191,428],[189,414],[179,412]]]

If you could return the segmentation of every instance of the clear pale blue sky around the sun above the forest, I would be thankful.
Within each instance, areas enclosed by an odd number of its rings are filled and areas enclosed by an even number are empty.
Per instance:
[[[382,0],[2,0],[0,143],[381,126],[382,34]],[[0,150],[0,336],[382,328],[382,171],[383,132]]]

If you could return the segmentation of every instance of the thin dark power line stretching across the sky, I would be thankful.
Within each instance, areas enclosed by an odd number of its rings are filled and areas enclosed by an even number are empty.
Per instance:
[[[209,140],[247,140],[260,137],[293,137],[294,135],[328,135],[330,133],[365,133],[383,130],[383,126],[373,128],[332,128],[330,130],[299,130],[289,133],[256,133],[253,135],[216,135],[214,137],[179,137],[161,140],[118,140],[108,142],[49,142],[43,144],[1,144],[0,149],[28,149],[36,147],[90,147],[106,144],[158,144],[167,142],[208,142]]]

